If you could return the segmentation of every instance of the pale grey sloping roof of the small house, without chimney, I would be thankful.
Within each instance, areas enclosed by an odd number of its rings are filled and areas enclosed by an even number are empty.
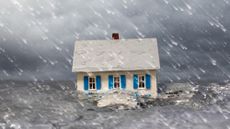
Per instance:
[[[73,72],[159,69],[156,39],[76,41]]]

